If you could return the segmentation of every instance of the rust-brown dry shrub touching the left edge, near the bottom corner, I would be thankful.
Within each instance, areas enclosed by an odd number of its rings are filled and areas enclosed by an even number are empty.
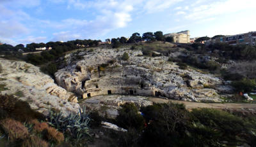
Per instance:
[[[26,139],[29,137],[28,129],[20,122],[11,118],[6,118],[0,122],[1,128],[8,135],[11,142],[17,139]]]

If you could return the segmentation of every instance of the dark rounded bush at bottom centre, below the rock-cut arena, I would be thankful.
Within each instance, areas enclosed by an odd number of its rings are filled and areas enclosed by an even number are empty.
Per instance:
[[[118,126],[125,129],[133,127],[136,130],[142,130],[144,125],[143,116],[140,115],[138,108],[134,104],[124,104],[122,109],[118,110],[116,122]]]

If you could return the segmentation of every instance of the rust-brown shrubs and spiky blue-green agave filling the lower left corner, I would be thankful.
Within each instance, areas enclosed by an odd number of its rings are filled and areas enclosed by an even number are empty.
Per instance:
[[[45,118],[12,95],[0,99],[0,146],[84,146],[90,139],[85,109],[67,117],[50,111]]]

